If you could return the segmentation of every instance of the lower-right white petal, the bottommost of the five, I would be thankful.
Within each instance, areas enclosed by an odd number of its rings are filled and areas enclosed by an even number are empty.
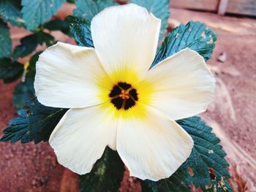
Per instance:
[[[192,138],[183,128],[151,107],[144,118],[118,122],[118,154],[130,175],[141,180],[170,177],[189,157],[192,146]]]

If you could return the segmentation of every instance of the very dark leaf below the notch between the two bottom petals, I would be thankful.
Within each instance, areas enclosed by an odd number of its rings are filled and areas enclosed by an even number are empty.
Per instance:
[[[124,164],[116,151],[106,147],[90,173],[80,175],[82,192],[118,191],[124,175]]]

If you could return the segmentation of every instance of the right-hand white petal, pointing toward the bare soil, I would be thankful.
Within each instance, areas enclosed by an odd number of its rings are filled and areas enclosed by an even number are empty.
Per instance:
[[[214,99],[215,79],[197,52],[181,50],[154,66],[146,80],[154,86],[151,106],[177,120],[206,111]]]

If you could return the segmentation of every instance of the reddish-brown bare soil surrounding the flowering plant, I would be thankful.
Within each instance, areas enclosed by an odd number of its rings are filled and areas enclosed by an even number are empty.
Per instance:
[[[222,140],[234,191],[255,192],[256,20],[171,9],[170,26],[189,20],[206,23],[219,34],[217,47],[208,61],[217,77],[216,99],[201,116]],[[14,45],[26,34],[26,31],[12,28]],[[59,37],[59,33],[54,35],[70,42],[67,37]],[[15,84],[0,82],[0,130],[16,115],[12,107]],[[57,163],[47,142],[38,145],[0,143],[0,172],[0,192],[79,191],[78,176]],[[120,191],[140,191],[140,186],[126,172]]]

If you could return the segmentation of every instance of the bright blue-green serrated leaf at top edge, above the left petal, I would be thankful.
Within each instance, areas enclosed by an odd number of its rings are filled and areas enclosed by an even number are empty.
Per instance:
[[[21,13],[28,30],[50,20],[66,0],[22,0]]]

